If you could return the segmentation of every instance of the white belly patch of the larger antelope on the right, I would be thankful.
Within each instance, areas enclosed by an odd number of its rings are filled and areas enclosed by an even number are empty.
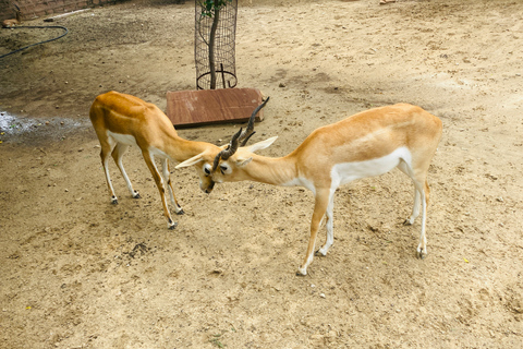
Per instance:
[[[337,164],[330,170],[332,188],[352,182],[360,178],[375,177],[387,173],[403,160],[411,167],[412,155],[409,148],[400,147],[380,158],[366,161]]]

